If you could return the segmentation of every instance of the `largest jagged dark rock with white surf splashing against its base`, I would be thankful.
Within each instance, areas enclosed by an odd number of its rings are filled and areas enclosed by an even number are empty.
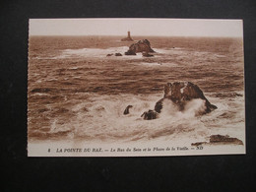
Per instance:
[[[168,99],[182,111],[186,103],[195,98],[201,98],[205,101],[205,109],[204,111],[199,111],[198,115],[211,112],[217,108],[216,105],[209,102],[197,85],[191,82],[175,82],[173,84],[167,83],[167,85],[164,86],[164,96],[156,103],[155,110],[160,113],[163,100]]]

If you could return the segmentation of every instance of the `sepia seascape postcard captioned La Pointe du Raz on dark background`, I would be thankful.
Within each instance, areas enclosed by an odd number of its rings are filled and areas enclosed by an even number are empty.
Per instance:
[[[245,154],[241,20],[31,19],[29,157]]]

